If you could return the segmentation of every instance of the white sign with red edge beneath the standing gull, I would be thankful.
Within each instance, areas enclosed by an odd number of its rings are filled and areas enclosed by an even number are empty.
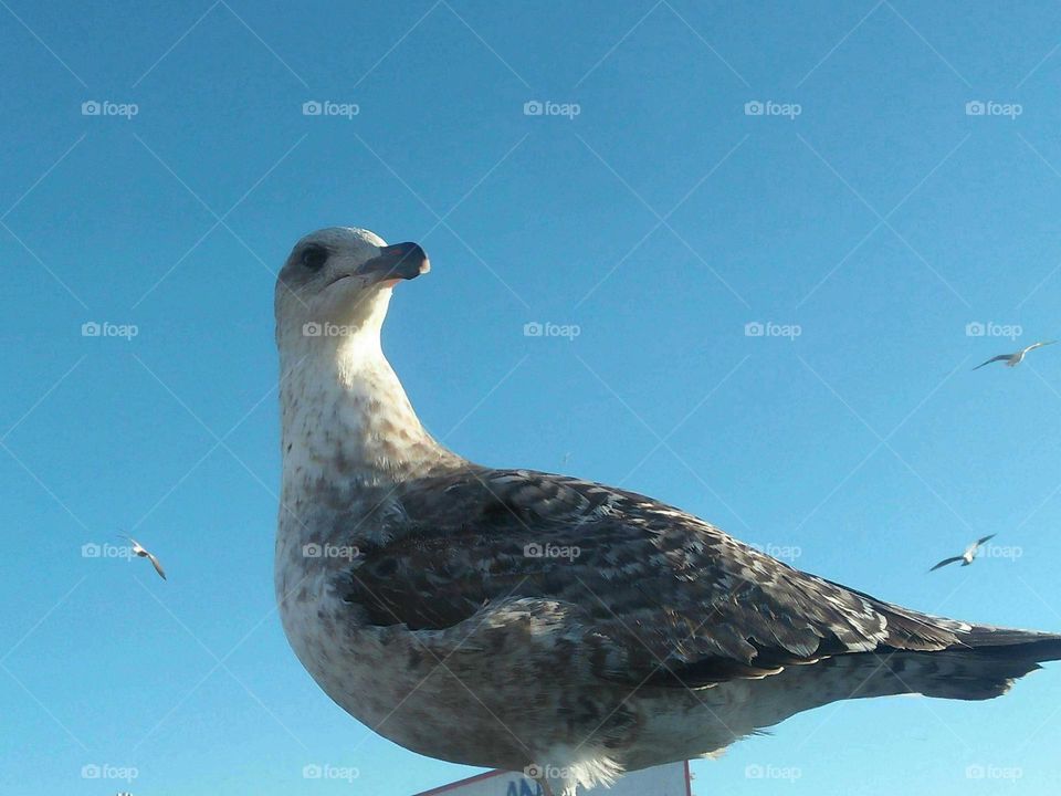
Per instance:
[[[544,796],[542,786],[523,774],[511,772],[489,772],[469,779],[416,796]],[[668,765],[631,772],[619,777],[608,787],[596,787],[580,792],[586,796],[692,796],[689,776],[689,763],[669,763]]]

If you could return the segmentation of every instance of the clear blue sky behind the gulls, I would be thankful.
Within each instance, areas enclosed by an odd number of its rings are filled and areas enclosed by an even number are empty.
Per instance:
[[[1061,336],[1055,4],[336,6],[0,3],[0,789],[474,773],[344,714],[275,615],[274,272],[330,224],[430,253],[385,346],[469,458],[1061,630],[1061,348],[970,371]],[[122,532],[169,580],[83,554]],[[1058,666],[990,703],[844,703],[695,787],[1052,794],[1059,704]]]

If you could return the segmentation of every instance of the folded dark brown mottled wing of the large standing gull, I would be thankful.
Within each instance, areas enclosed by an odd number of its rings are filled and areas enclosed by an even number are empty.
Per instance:
[[[879,648],[941,649],[960,622],[801,573],[658,501],[525,470],[414,482],[339,588],[377,626],[434,631],[548,600],[601,678],[705,685]]]

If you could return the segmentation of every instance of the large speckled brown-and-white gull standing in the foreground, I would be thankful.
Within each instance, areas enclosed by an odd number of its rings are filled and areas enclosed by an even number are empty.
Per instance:
[[[986,700],[1061,658],[1061,635],[928,616],[652,498],[449,450],[380,344],[396,286],[429,268],[416,243],[328,228],[275,291],[279,612],[380,735],[576,796],[839,700]]]

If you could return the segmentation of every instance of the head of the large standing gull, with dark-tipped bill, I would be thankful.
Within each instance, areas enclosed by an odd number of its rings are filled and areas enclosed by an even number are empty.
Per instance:
[[[392,289],[430,269],[416,243],[387,245],[353,227],[311,232],[291,250],[276,279],[276,339],[377,332]]]

